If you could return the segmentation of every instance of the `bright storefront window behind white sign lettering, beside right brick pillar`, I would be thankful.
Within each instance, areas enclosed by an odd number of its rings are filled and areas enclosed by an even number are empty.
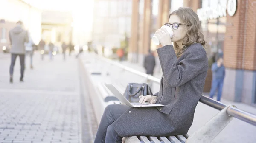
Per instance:
[[[197,11],[208,44],[207,55],[209,59],[212,59],[211,57],[215,56],[216,53],[223,51],[227,25],[226,13],[223,12],[223,9],[226,8],[227,0],[202,0],[202,8]],[[209,11],[221,12],[214,12],[214,15],[209,15]],[[209,64],[210,62],[212,61],[209,61]]]

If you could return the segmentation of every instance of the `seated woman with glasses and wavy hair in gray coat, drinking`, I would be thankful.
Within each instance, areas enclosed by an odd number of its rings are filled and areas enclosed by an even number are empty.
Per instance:
[[[140,96],[139,101],[164,106],[108,105],[94,143],[121,143],[122,137],[133,135],[172,136],[188,132],[207,76],[206,42],[198,15],[191,8],[173,11],[165,25],[173,30],[171,38],[165,28],[155,33],[163,46],[157,49],[163,71],[160,90],[154,95]]]

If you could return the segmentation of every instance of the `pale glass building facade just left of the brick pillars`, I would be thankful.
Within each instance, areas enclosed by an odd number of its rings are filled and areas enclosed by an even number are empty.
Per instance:
[[[94,0],[92,40],[94,48],[125,48],[131,37],[134,0]],[[127,44],[128,45],[128,44]],[[100,52],[100,51],[99,51]]]

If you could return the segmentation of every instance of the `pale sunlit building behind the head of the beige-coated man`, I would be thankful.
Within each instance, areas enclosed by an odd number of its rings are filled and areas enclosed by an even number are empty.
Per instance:
[[[0,47],[10,45],[9,30],[21,20],[35,44],[41,39],[41,10],[22,0],[1,0]],[[2,50],[0,50],[2,52]]]

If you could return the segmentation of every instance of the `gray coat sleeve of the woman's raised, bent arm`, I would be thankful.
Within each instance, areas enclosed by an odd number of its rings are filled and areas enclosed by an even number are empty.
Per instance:
[[[177,56],[172,45],[157,49],[157,53],[163,76],[169,87],[179,87],[208,69],[207,54],[202,47],[195,47],[183,53],[185,58],[178,65],[176,65]]]

